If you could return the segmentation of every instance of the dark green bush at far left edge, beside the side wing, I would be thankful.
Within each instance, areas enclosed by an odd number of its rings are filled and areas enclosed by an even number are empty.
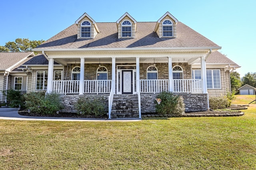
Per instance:
[[[13,89],[9,89],[7,91],[1,91],[3,93],[3,95],[6,97],[8,106],[10,107],[24,107],[24,95],[22,93],[22,91],[19,90],[13,90]]]

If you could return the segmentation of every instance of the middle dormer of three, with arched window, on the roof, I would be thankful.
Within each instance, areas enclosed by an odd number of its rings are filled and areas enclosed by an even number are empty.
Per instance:
[[[137,21],[127,12],[116,21],[118,38],[135,38]]]

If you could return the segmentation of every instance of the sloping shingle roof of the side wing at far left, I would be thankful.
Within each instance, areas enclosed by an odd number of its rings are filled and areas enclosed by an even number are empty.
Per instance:
[[[8,69],[12,65],[15,65],[16,63],[18,63],[20,60],[26,58],[27,56],[34,56],[34,53],[33,52],[0,52],[0,70]],[[15,69],[16,67],[19,67],[29,59],[31,59],[31,57],[26,58],[24,61],[17,64],[13,69]]]

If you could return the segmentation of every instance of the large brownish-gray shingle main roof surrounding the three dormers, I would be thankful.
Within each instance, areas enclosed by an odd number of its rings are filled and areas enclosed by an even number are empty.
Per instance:
[[[176,25],[176,38],[159,38],[156,22],[137,22],[135,38],[120,38],[115,22],[96,23],[100,33],[94,39],[77,39],[77,25],[73,24],[36,49],[95,49],[95,48],[160,48],[160,47],[219,47],[182,22]]]

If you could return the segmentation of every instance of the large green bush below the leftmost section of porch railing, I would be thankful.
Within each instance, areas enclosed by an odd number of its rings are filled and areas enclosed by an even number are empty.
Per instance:
[[[31,113],[40,115],[54,115],[62,109],[60,95],[58,93],[30,92],[25,96],[26,108]]]

